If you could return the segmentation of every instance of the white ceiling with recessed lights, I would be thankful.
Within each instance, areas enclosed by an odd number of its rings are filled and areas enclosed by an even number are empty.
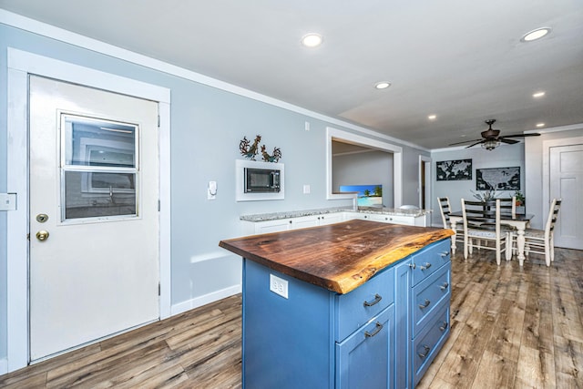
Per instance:
[[[488,118],[501,135],[583,123],[576,0],[0,0],[0,8],[424,148],[479,138]],[[550,35],[520,41],[541,26]],[[309,32],[323,45],[301,46]],[[374,89],[381,80],[392,87]],[[533,98],[538,90],[546,96]]]

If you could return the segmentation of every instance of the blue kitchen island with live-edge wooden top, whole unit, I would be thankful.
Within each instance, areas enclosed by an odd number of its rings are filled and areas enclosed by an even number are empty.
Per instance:
[[[451,230],[366,220],[220,241],[247,388],[413,387],[449,334]]]

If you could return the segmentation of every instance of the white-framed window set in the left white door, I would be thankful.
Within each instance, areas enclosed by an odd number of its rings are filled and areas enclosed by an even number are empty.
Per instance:
[[[61,220],[138,217],[139,127],[61,114]]]

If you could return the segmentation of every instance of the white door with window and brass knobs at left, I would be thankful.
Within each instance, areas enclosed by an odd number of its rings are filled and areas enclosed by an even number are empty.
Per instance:
[[[159,318],[158,105],[30,77],[30,359]]]

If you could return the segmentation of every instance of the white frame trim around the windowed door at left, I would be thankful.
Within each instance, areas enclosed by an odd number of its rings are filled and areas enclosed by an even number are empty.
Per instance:
[[[7,213],[8,372],[28,364],[28,75],[159,103],[160,319],[170,316],[170,90],[8,47],[7,189],[16,210]],[[26,323],[26,325],[23,325]]]

